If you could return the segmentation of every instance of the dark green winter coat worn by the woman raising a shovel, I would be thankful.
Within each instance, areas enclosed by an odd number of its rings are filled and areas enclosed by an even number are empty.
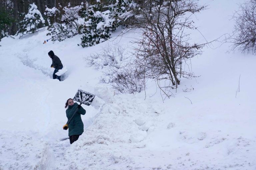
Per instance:
[[[72,106],[68,106],[66,110],[66,116],[69,119],[72,117],[73,113],[76,111],[78,104],[74,103]],[[75,116],[68,124],[68,136],[81,135],[84,132],[84,124],[81,119],[81,115],[85,115],[86,111],[84,108],[78,109]]]

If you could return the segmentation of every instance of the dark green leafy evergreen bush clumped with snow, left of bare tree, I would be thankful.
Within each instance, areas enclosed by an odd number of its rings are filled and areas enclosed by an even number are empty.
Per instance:
[[[102,3],[97,3],[84,11],[85,23],[82,29],[83,37],[81,38],[82,47],[92,46],[109,39],[111,31],[117,27],[116,19],[112,18],[109,12],[102,13]]]

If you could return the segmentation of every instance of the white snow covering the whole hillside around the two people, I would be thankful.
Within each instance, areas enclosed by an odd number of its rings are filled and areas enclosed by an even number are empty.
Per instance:
[[[194,24],[206,40],[231,33],[231,16],[241,0],[205,0],[208,10]],[[116,95],[100,83],[102,70],[87,67],[86,57],[118,43],[125,57],[138,38],[136,30],[82,48],[80,35],[63,42],[43,41],[46,28],[0,42],[1,170],[255,170],[255,63],[252,54],[227,53],[230,44],[215,42],[192,59],[196,79],[181,79],[175,97],[163,102],[155,82],[146,91]],[[204,42],[200,33],[192,40]],[[52,79],[48,52],[68,72]],[[239,80],[240,77],[240,80]],[[77,89],[95,94],[82,105],[84,133],[70,145],[63,130],[65,102]],[[185,92],[187,91],[187,92]],[[146,95],[146,99],[145,99]],[[145,99],[145,100],[144,100]]]

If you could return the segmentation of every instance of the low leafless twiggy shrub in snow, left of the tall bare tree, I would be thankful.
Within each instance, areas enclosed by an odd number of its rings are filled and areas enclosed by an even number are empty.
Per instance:
[[[119,44],[106,45],[99,53],[85,57],[89,66],[102,69],[105,77],[100,82],[110,83],[117,93],[136,93],[143,90],[143,79],[138,70],[124,54],[125,48]]]

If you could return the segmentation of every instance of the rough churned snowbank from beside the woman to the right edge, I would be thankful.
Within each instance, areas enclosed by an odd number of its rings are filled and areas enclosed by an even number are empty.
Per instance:
[[[236,170],[256,166],[256,140],[208,130],[199,117],[187,120],[186,115],[170,113],[171,106],[148,105],[153,101],[139,95],[115,95],[112,102],[101,105],[92,125],[66,148],[56,169]],[[163,121],[169,117],[172,122]]]

